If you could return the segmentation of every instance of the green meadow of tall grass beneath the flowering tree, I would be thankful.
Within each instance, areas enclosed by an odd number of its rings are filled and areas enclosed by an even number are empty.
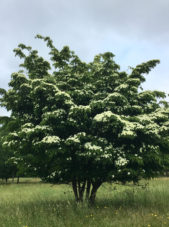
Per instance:
[[[76,205],[67,185],[0,184],[1,227],[169,226],[169,178],[144,185],[104,184],[96,204]]]

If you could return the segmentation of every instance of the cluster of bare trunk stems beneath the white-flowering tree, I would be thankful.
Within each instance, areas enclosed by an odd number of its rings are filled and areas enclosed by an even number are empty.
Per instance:
[[[75,195],[76,202],[83,202],[84,193],[86,192],[85,199],[91,204],[94,203],[96,198],[96,193],[102,182],[84,180],[83,182],[73,179],[72,188]]]

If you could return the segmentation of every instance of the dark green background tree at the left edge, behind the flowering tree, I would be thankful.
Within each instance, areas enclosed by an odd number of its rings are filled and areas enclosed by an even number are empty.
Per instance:
[[[15,131],[19,127],[19,121],[15,118],[0,117],[0,178],[6,179],[17,177],[19,183],[19,177],[30,176],[30,173],[34,176],[34,173],[30,171],[30,168],[25,165],[25,161],[17,149],[12,146],[5,146],[5,138],[15,135]]]

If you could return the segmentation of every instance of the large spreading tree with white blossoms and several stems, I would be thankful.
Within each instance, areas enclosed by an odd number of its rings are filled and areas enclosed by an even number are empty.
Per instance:
[[[13,73],[1,105],[20,127],[4,146],[17,149],[38,176],[71,183],[77,201],[94,202],[103,182],[134,181],[162,171],[169,133],[165,93],[143,91],[159,60],[120,71],[110,52],[84,63],[68,47],[50,49],[51,62],[20,44],[23,70]]]

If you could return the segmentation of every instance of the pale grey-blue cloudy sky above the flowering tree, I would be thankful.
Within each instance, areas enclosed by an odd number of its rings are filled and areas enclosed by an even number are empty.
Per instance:
[[[161,63],[147,75],[145,89],[169,93],[169,0],[0,0],[0,87],[18,71],[13,49],[31,45],[44,57],[36,34],[70,46],[82,60],[113,52],[122,70],[150,59]],[[0,108],[0,115],[9,115]]]

